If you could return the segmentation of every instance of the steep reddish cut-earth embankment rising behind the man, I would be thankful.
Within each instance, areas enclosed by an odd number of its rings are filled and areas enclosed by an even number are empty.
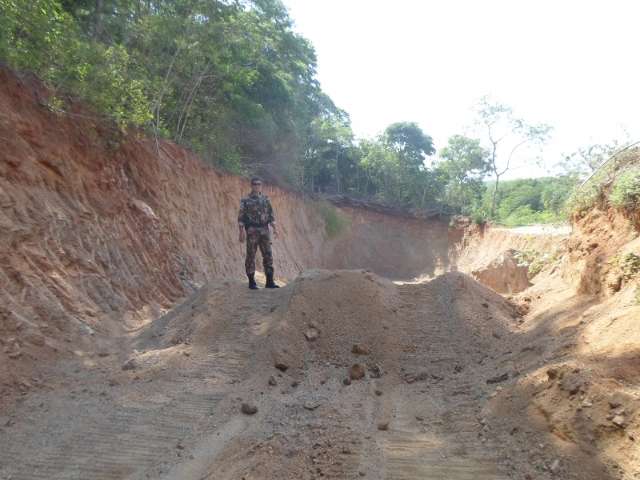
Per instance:
[[[38,82],[0,69],[0,382],[24,390],[39,381],[18,380],[29,365],[93,350],[205,282],[244,276],[236,212],[245,180],[171,143],[123,138],[81,105],[52,113],[46,97]],[[438,221],[405,229],[346,209],[345,228],[328,238],[316,203],[265,193],[280,226],[280,279],[325,266],[407,278],[446,264]]]

